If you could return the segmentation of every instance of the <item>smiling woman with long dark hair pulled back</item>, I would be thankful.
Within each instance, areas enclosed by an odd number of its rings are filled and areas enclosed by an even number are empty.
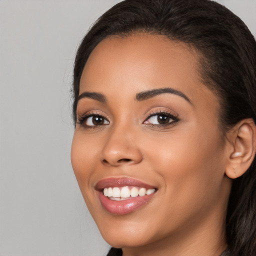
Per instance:
[[[71,161],[108,255],[256,255],[256,43],[210,0],[125,0],[76,54]]]

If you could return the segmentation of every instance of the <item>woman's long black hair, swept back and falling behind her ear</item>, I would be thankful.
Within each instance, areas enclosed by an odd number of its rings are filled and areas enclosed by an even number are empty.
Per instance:
[[[219,98],[220,128],[244,118],[256,121],[256,42],[243,21],[211,0],[124,0],[90,28],[77,50],[73,73],[73,118],[84,65],[110,35],[146,32],[182,41],[199,56],[203,83]],[[228,249],[222,255],[256,255],[256,164],[233,180],[226,215]],[[229,254],[228,254],[229,253]]]

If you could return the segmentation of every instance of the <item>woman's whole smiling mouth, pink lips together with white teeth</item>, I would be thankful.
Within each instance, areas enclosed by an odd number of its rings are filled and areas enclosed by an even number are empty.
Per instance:
[[[157,191],[156,187],[131,178],[102,179],[95,188],[103,208],[120,215],[146,204]]]

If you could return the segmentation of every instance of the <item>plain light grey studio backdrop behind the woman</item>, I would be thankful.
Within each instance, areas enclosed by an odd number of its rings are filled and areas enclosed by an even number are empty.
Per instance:
[[[256,34],[256,0],[218,0]],[[0,0],[0,255],[100,256],[70,164],[78,43],[118,0]]]

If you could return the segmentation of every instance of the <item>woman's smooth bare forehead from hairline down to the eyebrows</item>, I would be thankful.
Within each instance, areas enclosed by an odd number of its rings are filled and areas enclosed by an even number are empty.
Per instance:
[[[216,104],[216,97],[199,75],[198,59],[187,44],[164,35],[110,36],[91,52],[82,72],[80,93],[98,91],[120,97],[131,90],[138,93],[171,87],[184,92],[192,102],[207,96]]]

